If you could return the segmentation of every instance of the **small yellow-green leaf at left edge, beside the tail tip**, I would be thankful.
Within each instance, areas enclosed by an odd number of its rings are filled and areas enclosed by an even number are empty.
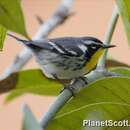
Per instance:
[[[7,30],[2,25],[0,25],[0,51],[3,48],[6,32]]]

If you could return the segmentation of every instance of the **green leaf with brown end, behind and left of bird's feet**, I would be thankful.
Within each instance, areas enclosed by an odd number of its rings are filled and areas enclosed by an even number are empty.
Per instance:
[[[1,88],[13,88],[7,96],[6,102],[11,101],[25,93],[56,96],[62,89],[61,84],[55,80],[46,78],[38,69],[21,71],[15,73],[11,77],[14,78],[6,79],[4,83],[0,82]],[[6,82],[8,82],[8,84],[6,84]],[[8,86],[11,84],[12,86]]]

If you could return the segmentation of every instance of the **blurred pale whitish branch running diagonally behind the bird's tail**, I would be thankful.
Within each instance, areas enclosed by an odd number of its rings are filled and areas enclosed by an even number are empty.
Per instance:
[[[62,0],[59,7],[53,15],[44,24],[42,24],[33,37],[33,40],[46,38],[57,26],[61,25],[70,16],[73,0]],[[19,71],[30,59],[32,52],[28,48],[24,48],[15,58],[14,62],[5,70],[0,80],[7,78],[13,72]]]

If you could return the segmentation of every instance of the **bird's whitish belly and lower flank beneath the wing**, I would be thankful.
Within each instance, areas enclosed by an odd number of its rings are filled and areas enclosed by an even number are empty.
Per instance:
[[[64,66],[57,66],[55,62],[62,61],[61,63],[69,65],[70,68],[64,69]],[[83,75],[83,70],[72,70],[71,66],[75,66],[76,59],[72,58],[67,61],[67,59],[63,61],[63,57],[59,56],[55,53],[49,53],[44,51],[37,56],[37,62],[40,64],[42,71],[44,74],[49,77],[53,78],[53,74],[56,74],[59,79],[73,79],[76,77],[80,77]]]

